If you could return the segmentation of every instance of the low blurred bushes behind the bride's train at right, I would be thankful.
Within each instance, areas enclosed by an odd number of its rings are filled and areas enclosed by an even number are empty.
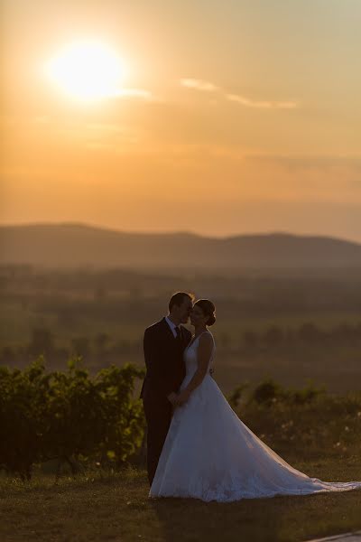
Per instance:
[[[300,459],[361,452],[361,394],[334,396],[311,384],[282,388],[267,379],[242,398],[240,418],[277,453]]]

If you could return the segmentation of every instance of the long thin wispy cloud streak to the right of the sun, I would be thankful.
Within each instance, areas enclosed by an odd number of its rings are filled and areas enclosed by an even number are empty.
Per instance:
[[[294,109],[300,106],[300,104],[294,100],[255,100],[252,98],[246,98],[245,96],[240,96],[239,94],[229,94],[224,90],[220,89],[214,83],[205,81],[203,79],[180,79],[180,85],[182,87],[186,87],[187,89],[195,89],[204,92],[218,92],[218,94],[223,96],[223,98],[226,98],[229,101],[236,102],[237,104],[244,107],[255,107],[259,109]]]

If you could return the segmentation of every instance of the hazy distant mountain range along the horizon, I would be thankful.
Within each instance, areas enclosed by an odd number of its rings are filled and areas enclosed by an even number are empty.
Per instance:
[[[191,233],[143,234],[84,224],[0,227],[0,263],[34,266],[157,268],[361,266],[361,245],[287,233],[206,238]]]

